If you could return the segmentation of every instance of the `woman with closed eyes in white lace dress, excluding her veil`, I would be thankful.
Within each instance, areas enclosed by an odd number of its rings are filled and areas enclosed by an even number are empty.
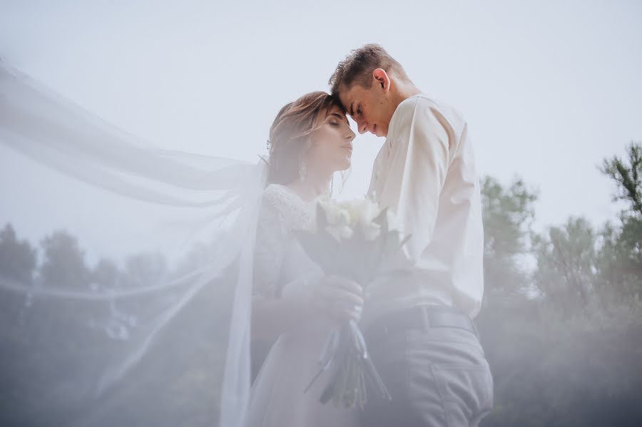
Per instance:
[[[359,319],[356,282],[324,277],[292,230],[314,219],[315,199],[332,175],[350,168],[352,140],[340,103],[324,92],[284,106],[270,129],[267,182],[258,220],[253,283],[253,342],[272,348],[253,385],[248,426],[354,426],[356,411],[319,397],[325,376],[303,392],[319,369],[328,331]],[[327,373],[326,373],[327,374]]]

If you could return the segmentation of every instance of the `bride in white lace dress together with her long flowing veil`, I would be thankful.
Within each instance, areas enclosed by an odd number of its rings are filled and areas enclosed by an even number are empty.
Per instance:
[[[154,354],[151,342],[159,331],[168,329],[165,326],[172,323],[178,312],[186,311],[190,300],[199,298],[195,296],[200,289],[235,266],[234,279],[228,281],[233,287],[229,324],[216,326],[229,332],[227,344],[223,342],[220,346],[227,349],[223,381],[219,384],[220,426],[354,426],[357,411],[319,402],[325,376],[307,392],[304,390],[319,368],[327,331],[344,319],[360,318],[361,288],[347,279],[325,277],[292,235],[292,230],[314,220],[315,199],[330,194],[332,175],[350,168],[354,138],[340,103],[327,93],[314,92],[280,110],[270,129],[268,158],[256,165],[158,150],[141,144],[132,135],[73,106],[0,62],[0,144],[80,181],[84,185],[83,194],[91,188],[85,185],[88,183],[97,189],[94,195],[101,200],[115,203],[117,200],[112,197],[115,195],[120,197],[119,202],[131,200],[132,207],[128,210],[113,205],[101,209],[88,202],[77,210],[73,207],[75,203],[56,202],[49,207],[49,213],[68,205],[71,210],[63,213],[64,217],[72,224],[87,222],[93,237],[103,243],[131,236],[136,243],[147,242],[138,224],[141,227],[155,221],[157,225],[168,224],[161,220],[161,214],[178,213],[182,222],[170,222],[171,227],[166,230],[156,228],[151,233],[153,237],[166,234],[173,238],[168,241],[180,242],[165,244],[165,249],[188,252],[185,247],[188,240],[177,239],[177,235],[190,238],[198,235],[201,240],[210,237],[211,244],[205,246],[210,252],[203,251],[187,267],[183,266],[180,274],[177,270],[160,283],[101,289],[90,279],[76,278],[75,282],[87,280],[86,286],[70,289],[65,277],[41,287],[31,279],[7,281],[0,272],[0,289],[24,294],[29,300],[44,299],[43,304],[50,300],[76,304],[70,307],[79,304],[94,317],[97,312],[91,304],[104,302],[110,307],[112,314],[108,320],[111,324],[116,322],[122,332],[118,335],[121,338],[116,338],[129,341],[135,350],[125,358],[122,354],[111,359],[101,354],[83,356],[81,350],[93,346],[98,331],[74,336],[78,339],[77,354],[65,356],[78,360],[94,358],[89,360],[91,369],[78,371],[82,381],[74,382],[71,377],[66,380],[70,386],[76,384],[78,392],[74,391],[73,396],[81,396],[84,389],[79,389],[78,384],[89,382],[85,381],[86,376],[100,377],[98,389],[122,383],[127,370],[143,355],[147,361],[169,360],[168,363],[178,366],[180,362],[168,359],[167,354]],[[46,200],[49,196],[46,185],[49,182],[29,195],[30,200]],[[56,187],[56,194],[61,190]],[[112,198],[108,199],[103,190],[108,190]],[[6,196],[3,198],[3,205],[12,202]],[[238,213],[229,221],[233,211]],[[78,215],[81,212],[83,215]],[[134,213],[141,214],[138,223]],[[48,216],[44,215],[42,220]],[[118,227],[107,227],[114,222]],[[126,230],[118,234],[121,226],[135,230],[136,234]],[[155,240],[158,241],[160,237]],[[253,274],[248,274],[248,270]],[[152,304],[153,299],[158,299],[161,308]],[[125,317],[125,324],[118,306],[123,301],[136,303],[123,307],[143,308],[136,312],[135,319]],[[51,305],[56,307],[55,301]],[[83,311],[66,309],[66,312]],[[207,310],[197,314],[210,316]],[[136,322],[131,323],[132,319]],[[145,324],[147,319],[151,319],[149,324]],[[195,321],[194,329],[199,329],[200,323],[208,324],[206,320]],[[103,327],[91,321],[95,325],[92,327]],[[66,335],[66,326],[56,331],[54,320],[47,323],[41,324],[42,330],[54,331],[54,336]],[[186,331],[178,331],[178,336],[168,335],[165,340],[185,336],[192,339]],[[211,335],[208,332],[203,336]],[[269,349],[251,389],[250,339],[255,354],[260,356],[261,346]],[[115,366],[111,366],[112,359]],[[74,362],[63,361],[66,366]],[[97,369],[98,376],[93,369]],[[72,394],[54,391],[60,401],[72,398]]]

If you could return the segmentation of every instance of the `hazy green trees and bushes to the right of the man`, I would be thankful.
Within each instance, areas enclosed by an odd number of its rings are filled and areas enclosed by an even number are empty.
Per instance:
[[[623,203],[619,222],[574,217],[541,234],[529,228],[536,198],[521,181],[483,181],[477,323],[495,384],[484,427],[642,425],[642,145],[601,171]]]

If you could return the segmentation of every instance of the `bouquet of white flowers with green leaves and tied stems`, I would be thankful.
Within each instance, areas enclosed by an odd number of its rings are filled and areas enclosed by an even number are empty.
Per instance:
[[[400,262],[407,262],[402,246],[410,236],[402,239],[395,227],[394,214],[381,209],[371,199],[320,200],[315,225],[313,230],[296,232],[310,258],[325,274],[353,279],[364,290],[375,277],[394,271]],[[383,398],[390,399],[354,320],[330,332],[319,362],[319,373],[305,391],[322,372],[332,367],[334,371],[320,397],[322,403],[332,400],[335,406],[342,402],[351,408],[363,408],[367,398],[366,379]]]

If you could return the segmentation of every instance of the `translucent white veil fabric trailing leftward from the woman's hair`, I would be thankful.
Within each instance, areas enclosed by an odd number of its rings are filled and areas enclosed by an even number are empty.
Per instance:
[[[0,63],[0,144],[81,182],[83,191],[91,192],[95,200],[117,201],[111,205],[113,209],[94,209],[91,218],[83,216],[83,221],[95,225],[94,240],[83,245],[101,247],[101,242],[119,238],[106,224],[144,228],[146,232],[136,235],[136,242],[167,254],[172,263],[171,271],[156,282],[136,286],[103,286],[91,277],[73,274],[71,278],[58,277],[54,283],[42,277],[0,275],[0,291],[20,301],[21,312],[28,316],[30,304],[60,308],[51,322],[31,329],[49,328],[49,336],[60,337],[49,339],[44,348],[51,355],[58,354],[56,342],[67,342],[70,334],[71,326],[59,321],[61,312],[78,314],[81,324],[73,327],[83,332],[74,335],[77,358],[71,352],[70,360],[63,361],[71,367],[61,376],[74,391],[63,393],[61,401],[118,392],[141,360],[145,364],[172,364],[173,360],[163,359],[168,354],[152,348],[156,341],[169,343],[166,349],[172,342],[182,343],[185,349],[195,346],[190,343],[192,331],[172,331],[170,327],[177,317],[189,315],[197,321],[188,327],[210,334],[223,354],[220,381],[210,384],[218,390],[208,396],[219,400],[209,402],[219,408],[215,417],[222,427],[243,425],[250,396],[253,249],[265,189],[265,162],[253,164],[154,148],[6,63]],[[43,182],[42,192],[26,197],[37,199],[51,190],[52,184]],[[6,197],[2,200],[5,206],[12,202]],[[51,212],[68,212],[65,215],[71,225],[83,215],[75,211],[76,202],[72,194],[51,206]],[[72,286],[70,281],[77,283]],[[194,307],[200,311],[189,313]],[[83,311],[85,317],[80,316]],[[92,354],[88,351],[92,347],[105,351]],[[43,396],[61,393],[58,383]],[[92,417],[101,415],[93,413],[88,418]],[[81,424],[78,419],[70,421]]]

